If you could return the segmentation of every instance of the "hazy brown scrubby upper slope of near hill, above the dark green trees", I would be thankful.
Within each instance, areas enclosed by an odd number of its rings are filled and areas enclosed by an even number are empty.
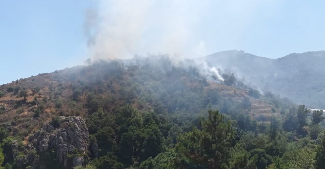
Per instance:
[[[156,113],[244,111],[260,121],[288,111],[275,96],[260,97],[240,81],[238,85],[214,83],[196,68],[175,67],[166,57],[128,62],[100,61],[1,85],[0,124],[9,125],[13,135],[27,137],[52,116],[87,118],[98,109],[111,112],[125,104]]]

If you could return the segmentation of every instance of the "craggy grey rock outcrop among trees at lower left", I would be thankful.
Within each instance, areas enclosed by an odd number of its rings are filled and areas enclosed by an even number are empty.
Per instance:
[[[30,152],[37,154],[52,152],[56,160],[65,169],[85,164],[88,150],[89,133],[81,117],[58,117],[51,123],[44,125],[29,138],[27,145]],[[44,157],[33,156],[28,153],[26,159],[32,169],[47,169],[49,165]]]

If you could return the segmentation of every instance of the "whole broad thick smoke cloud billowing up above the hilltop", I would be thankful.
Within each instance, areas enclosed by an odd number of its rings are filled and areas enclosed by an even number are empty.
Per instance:
[[[204,8],[195,0],[102,0],[85,16],[92,58],[168,54],[176,59],[205,55],[193,31]]]

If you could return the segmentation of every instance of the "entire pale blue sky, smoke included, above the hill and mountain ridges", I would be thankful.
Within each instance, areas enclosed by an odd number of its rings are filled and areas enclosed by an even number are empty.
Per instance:
[[[0,84],[112,53],[196,57],[239,49],[277,58],[325,50],[324,6],[322,0],[0,0]],[[91,10],[97,43],[87,46]]]

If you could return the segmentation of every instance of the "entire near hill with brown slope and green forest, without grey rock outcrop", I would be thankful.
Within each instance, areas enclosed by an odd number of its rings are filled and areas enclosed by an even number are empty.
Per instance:
[[[234,73],[219,70],[222,81],[205,72],[166,56],[135,57],[1,85],[2,168],[325,168],[323,111],[261,94]],[[66,154],[66,164],[54,145],[31,148],[41,127],[79,130],[59,116],[80,116],[89,133],[87,150]]]

